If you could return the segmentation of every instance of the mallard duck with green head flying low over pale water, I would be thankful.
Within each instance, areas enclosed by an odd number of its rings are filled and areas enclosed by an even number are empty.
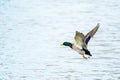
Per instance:
[[[88,32],[86,35],[84,35],[81,32],[76,31],[75,33],[75,41],[74,43],[71,42],[63,42],[61,44],[62,46],[69,46],[73,50],[77,51],[79,54],[82,55],[83,59],[88,59],[92,54],[87,49],[88,42],[93,37],[93,35],[96,33],[96,31],[99,28],[99,24],[97,24],[90,32]],[[86,57],[85,55],[88,55],[89,57]]]

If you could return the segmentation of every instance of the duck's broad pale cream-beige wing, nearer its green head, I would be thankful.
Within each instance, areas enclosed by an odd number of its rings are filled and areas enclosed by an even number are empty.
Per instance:
[[[76,31],[74,44],[78,47],[85,47],[85,37],[83,33]]]

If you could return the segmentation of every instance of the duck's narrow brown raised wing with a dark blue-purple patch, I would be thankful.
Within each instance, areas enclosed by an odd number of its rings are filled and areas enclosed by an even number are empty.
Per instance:
[[[85,35],[85,43],[88,44],[89,40],[91,39],[91,37],[94,36],[94,34],[97,32],[98,28],[99,28],[99,24],[96,25],[95,28],[93,28],[90,32],[88,32],[86,35]]]

